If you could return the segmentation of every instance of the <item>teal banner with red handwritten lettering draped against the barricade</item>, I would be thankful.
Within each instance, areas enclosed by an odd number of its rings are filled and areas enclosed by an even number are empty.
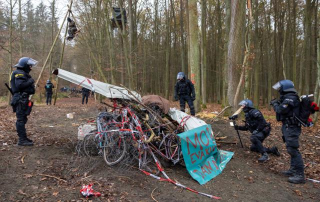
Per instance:
[[[186,169],[200,184],[220,174],[233,152],[219,150],[213,137],[211,125],[179,133]]]

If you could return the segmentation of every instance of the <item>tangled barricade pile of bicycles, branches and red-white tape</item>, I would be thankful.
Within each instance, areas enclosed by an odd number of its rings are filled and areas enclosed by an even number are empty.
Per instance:
[[[131,94],[132,95],[132,94]],[[157,95],[155,95],[157,96]],[[163,99],[163,98],[162,98]],[[213,195],[190,189],[169,178],[163,165],[169,163],[184,165],[180,139],[184,123],[190,117],[184,116],[178,123],[164,113],[163,105],[138,99],[112,99],[109,110],[100,112],[93,123],[85,123],[86,129],[78,144],[78,151],[88,158],[102,158],[109,166],[135,167],[146,175],[161,181],[211,198]],[[90,128],[90,129],[87,129]],[[160,177],[159,174],[164,177]]]

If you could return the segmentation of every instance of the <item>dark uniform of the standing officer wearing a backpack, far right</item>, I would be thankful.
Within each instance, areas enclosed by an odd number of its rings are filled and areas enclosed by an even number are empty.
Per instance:
[[[301,125],[294,118],[299,115],[299,97],[292,92],[280,95],[280,100],[273,104],[273,108],[276,112],[276,120],[282,121],[282,138],[291,156],[289,170],[304,176],[303,159],[298,149]]]

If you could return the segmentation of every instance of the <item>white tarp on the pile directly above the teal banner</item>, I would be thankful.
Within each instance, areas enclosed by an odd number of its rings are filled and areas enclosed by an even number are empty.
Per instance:
[[[195,116],[190,116],[183,111],[177,110],[175,108],[170,108],[168,111],[168,115],[178,123],[184,123],[184,131],[199,127],[201,125],[206,125],[206,122],[204,122],[203,120]]]

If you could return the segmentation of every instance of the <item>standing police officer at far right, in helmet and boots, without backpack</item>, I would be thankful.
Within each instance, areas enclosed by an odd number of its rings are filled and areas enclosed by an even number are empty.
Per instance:
[[[291,80],[280,80],[272,88],[280,93],[280,99],[272,99],[270,104],[276,112],[276,120],[282,122],[282,139],[291,156],[290,168],[280,172],[289,176],[289,182],[305,183],[303,159],[298,149],[301,125],[295,118],[299,115],[299,96]]]

